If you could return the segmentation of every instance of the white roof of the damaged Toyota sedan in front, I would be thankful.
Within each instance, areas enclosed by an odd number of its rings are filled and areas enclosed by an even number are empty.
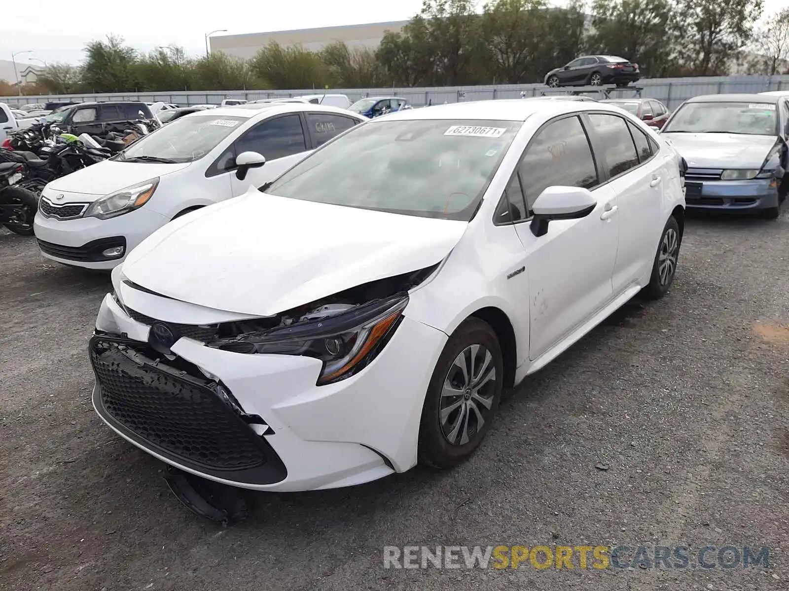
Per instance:
[[[451,102],[433,105],[429,109],[406,109],[389,113],[375,121],[466,119],[469,121],[525,121],[535,113],[548,117],[585,110],[604,110],[621,113],[618,107],[602,102],[552,101],[528,99],[497,99],[492,101]]]

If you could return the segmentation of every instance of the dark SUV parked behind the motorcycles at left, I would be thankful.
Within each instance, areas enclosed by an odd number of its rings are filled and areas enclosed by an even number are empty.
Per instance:
[[[123,132],[127,121],[153,119],[148,105],[136,101],[80,102],[63,113],[58,127],[75,136],[105,136],[107,132]]]

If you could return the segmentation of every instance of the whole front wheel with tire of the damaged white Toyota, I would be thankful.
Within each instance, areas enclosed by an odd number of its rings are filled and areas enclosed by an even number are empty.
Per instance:
[[[481,384],[473,386],[473,379],[466,380],[469,373],[477,381],[482,379]],[[419,427],[420,463],[451,468],[477,450],[499,408],[503,377],[499,339],[487,322],[468,318],[444,345],[428,385]],[[458,394],[444,396],[445,389]],[[445,413],[447,408],[453,409],[444,422],[442,407]]]

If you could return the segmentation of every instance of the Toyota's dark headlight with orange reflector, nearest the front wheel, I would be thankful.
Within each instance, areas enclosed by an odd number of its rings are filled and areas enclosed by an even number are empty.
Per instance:
[[[376,299],[328,318],[218,340],[211,347],[238,353],[305,355],[323,362],[317,385],[356,374],[379,354],[397,329],[408,294]]]

